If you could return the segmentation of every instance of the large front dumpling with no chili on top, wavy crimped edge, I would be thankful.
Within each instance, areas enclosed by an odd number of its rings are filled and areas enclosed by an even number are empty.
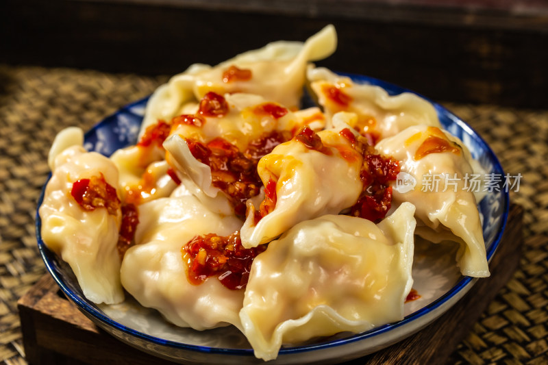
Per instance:
[[[360,332],[403,319],[413,283],[414,207],[378,225],[326,215],[303,221],[258,255],[240,311],[256,357],[284,343]]]

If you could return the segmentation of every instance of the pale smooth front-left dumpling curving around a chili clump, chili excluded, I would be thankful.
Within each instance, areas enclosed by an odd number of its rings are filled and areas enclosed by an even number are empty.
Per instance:
[[[234,216],[208,210],[196,197],[177,193],[138,206],[135,245],[125,253],[122,284],[145,307],[158,310],[175,325],[208,329],[240,327],[238,312],[244,290],[231,290],[208,277],[201,284],[188,279],[184,247],[197,235],[227,236],[240,228]],[[184,189],[184,188],[183,188]]]

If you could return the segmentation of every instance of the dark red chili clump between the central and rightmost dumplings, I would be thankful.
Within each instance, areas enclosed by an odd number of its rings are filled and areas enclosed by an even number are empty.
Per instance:
[[[399,164],[391,157],[377,155],[371,146],[365,146],[364,162],[360,171],[363,190],[353,207],[351,215],[378,222],[386,216],[392,205],[391,181],[399,173]]]

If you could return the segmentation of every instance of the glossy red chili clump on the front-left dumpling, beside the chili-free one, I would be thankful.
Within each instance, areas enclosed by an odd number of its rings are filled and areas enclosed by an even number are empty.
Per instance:
[[[236,231],[230,236],[195,236],[182,247],[181,253],[188,264],[186,275],[190,283],[198,285],[216,276],[225,287],[238,290],[247,285],[253,259],[265,249],[265,245],[245,249],[240,232]]]

